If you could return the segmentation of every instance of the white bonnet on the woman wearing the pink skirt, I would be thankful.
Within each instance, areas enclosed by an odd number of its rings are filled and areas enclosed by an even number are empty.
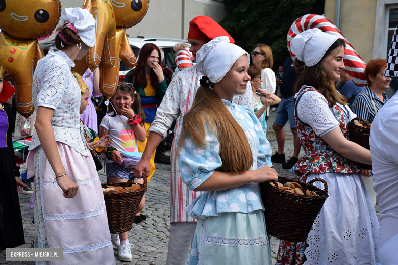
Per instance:
[[[82,41],[89,47],[95,46],[95,19],[87,9],[80,7],[65,8],[62,13],[62,25],[71,23],[78,31]]]

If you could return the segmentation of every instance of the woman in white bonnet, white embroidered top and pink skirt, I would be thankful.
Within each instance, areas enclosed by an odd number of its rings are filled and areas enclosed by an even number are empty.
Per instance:
[[[34,246],[62,248],[57,264],[115,264],[101,183],[80,131],[81,89],[70,71],[95,45],[94,27],[87,9],[64,9],[58,51],[39,60],[33,77]]]

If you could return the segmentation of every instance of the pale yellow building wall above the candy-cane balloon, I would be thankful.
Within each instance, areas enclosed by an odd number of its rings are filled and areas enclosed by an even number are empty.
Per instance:
[[[336,22],[336,0],[325,1],[325,16]],[[372,59],[377,0],[341,0],[339,30],[365,62]]]

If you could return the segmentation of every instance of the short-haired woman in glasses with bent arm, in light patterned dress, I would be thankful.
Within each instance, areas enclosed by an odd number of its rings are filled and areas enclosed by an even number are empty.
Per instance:
[[[260,88],[263,83],[261,77],[261,69],[252,65],[247,71],[250,76],[250,84],[252,85],[253,92],[253,109],[254,114],[259,119],[261,126],[264,130],[265,136],[267,135],[267,122],[265,121],[265,111],[271,105],[279,104],[281,99],[270,92]]]

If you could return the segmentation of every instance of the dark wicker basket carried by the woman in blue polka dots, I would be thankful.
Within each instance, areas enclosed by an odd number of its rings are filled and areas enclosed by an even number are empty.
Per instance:
[[[313,182],[324,183],[325,189],[312,185]],[[315,218],[328,198],[328,185],[325,180],[315,178],[308,183],[287,177],[278,176],[278,182],[297,182],[304,190],[314,191],[318,196],[300,195],[272,186],[269,182],[260,183],[261,199],[265,211],[267,233],[280,240],[291,242],[306,241]]]

